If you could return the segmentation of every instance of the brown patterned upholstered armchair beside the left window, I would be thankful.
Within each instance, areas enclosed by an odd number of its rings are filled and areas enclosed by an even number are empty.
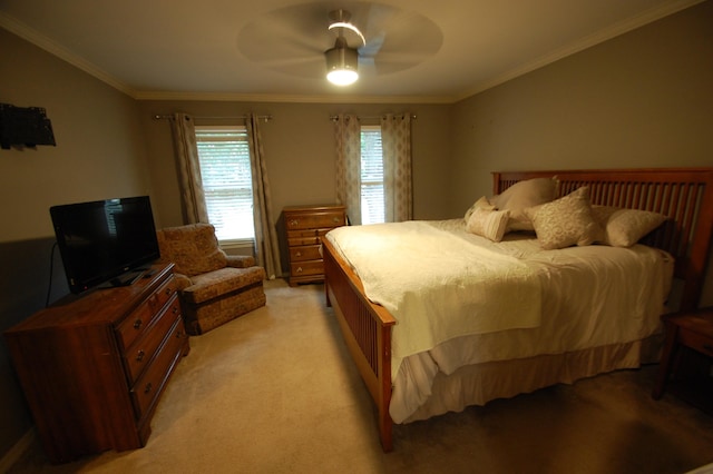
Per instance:
[[[226,255],[211,224],[166,227],[157,233],[160,261],[172,261],[186,330],[207,333],[265,305],[265,270],[252,256]]]

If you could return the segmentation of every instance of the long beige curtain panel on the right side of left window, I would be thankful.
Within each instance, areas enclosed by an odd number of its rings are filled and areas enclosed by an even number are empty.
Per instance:
[[[245,120],[253,175],[253,218],[255,220],[255,253],[257,265],[265,268],[268,279],[282,277],[277,230],[272,216],[272,196],[265,166],[265,152],[260,135],[260,119],[251,113]]]

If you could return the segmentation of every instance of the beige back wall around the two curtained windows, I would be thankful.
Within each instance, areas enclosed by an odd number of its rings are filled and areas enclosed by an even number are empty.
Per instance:
[[[364,117],[385,112],[416,113],[412,125],[414,215],[418,219],[445,216],[448,176],[442,169],[449,156],[450,106],[143,101],[140,108],[152,182],[162,211],[160,227],[179,225],[183,218],[170,126],[167,120],[153,117],[177,111],[198,118],[235,117],[248,112],[273,117],[266,124],[261,122],[261,135],[275,219],[285,206],[335,203],[334,139],[330,116],[340,112]],[[196,120],[196,124],[203,122],[205,120]]]

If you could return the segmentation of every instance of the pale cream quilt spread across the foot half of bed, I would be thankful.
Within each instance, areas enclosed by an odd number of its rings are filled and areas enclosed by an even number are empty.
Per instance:
[[[540,323],[539,279],[526,263],[431,223],[340,227],[329,238],[358,269],[369,299],[397,319],[394,375],[404,357],[453,337]]]

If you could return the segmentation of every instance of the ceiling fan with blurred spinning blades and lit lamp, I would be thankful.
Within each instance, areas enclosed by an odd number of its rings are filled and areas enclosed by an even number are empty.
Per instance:
[[[361,1],[334,9],[333,1],[322,1],[248,21],[237,49],[250,61],[290,76],[324,80],[325,72],[350,76],[353,70],[372,79],[418,66],[442,41],[440,28],[417,12]]]

